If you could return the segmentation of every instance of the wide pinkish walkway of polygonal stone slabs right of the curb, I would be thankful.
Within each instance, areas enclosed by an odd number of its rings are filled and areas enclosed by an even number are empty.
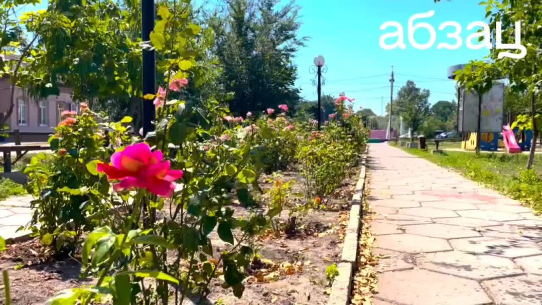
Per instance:
[[[542,304],[542,218],[399,148],[369,147],[377,304]]]

